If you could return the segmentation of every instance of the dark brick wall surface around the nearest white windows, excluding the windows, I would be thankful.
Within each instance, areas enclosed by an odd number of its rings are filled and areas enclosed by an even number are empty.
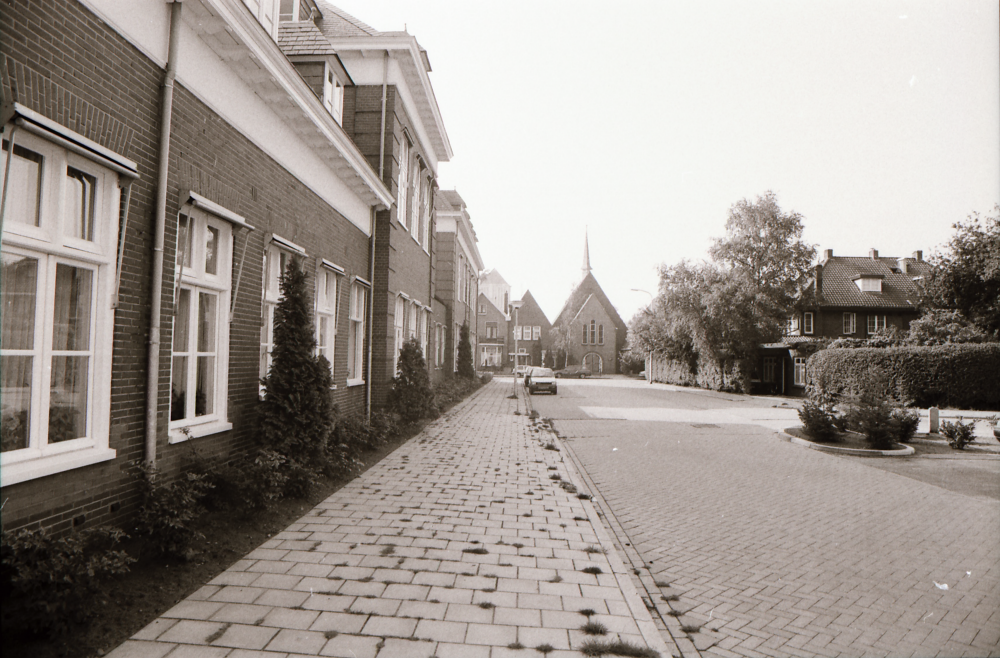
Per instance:
[[[72,35],[73,38],[67,38]],[[5,529],[44,525],[63,531],[124,523],[134,511],[129,462],[142,459],[149,340],[150,262],[162,70],[72,0],[15,0],[0,12],[4,99],[15,98],[138,163],[125,233],[115,313],[110,447],[117,457],[4,487]],[[58,84],[53,82],[58,80]],[[14,89],[16,87],[16,89]],[[340,294],[333,393],[341,413],[360,413],[363,387],[346,387],[349,281],[368,277],[368,238],[181,85],[175,88],[164,251],[159,371],[159,466],[169,477],[205,460],[246,450],[254,427],[261,327],[262,261],[271,232],[308,245],[306,270],[327,258],[347,270]],[[233,280],[246,256],[230,328],[231,432],[167,443],[173,265],[177,213],[192,189],[244,217],[256,230],[234,231]],[[310,283],[312,285],[312,281]],[[376,314],[377,316],[378,314]]]

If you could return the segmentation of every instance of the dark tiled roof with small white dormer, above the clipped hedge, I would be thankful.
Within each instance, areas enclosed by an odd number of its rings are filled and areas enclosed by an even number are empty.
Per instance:
[[[820,305],[915,308],[920,292],[913,278],[929,273],[930,265],[914,258],[833,256],[817,266]],[[882,292],[862,292],[855,283],[862,277],[881,278]]]

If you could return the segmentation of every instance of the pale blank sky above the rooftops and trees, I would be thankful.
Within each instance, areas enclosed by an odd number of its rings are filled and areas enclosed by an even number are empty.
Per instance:
[[[839,255],[925,257],[1000,202],[995,0],[333,0],[427,49],[487,268],[555,319],[594,275],[626,322],[774,190]]]

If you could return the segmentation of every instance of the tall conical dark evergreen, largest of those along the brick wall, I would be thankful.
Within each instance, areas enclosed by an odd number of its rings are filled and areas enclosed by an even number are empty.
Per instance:
[[[319,470],[336,422],[330,363],[316,356],[312,304],[298,258],[281,275],[274,310],[274,349],[260,404],[261,443],[284,455],[291,468]]]

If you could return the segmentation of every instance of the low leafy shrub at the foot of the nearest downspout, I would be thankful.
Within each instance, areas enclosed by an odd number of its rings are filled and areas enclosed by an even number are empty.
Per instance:
[[[159,484],[159,470],[147,462],[134,464],[141,503],[136,534],[149,538],[159,554],[189,557],[191,542],[202,537],[191,522],[205,511],[202,499],[215,488],[204,473],[184,473],[170,484]]]

